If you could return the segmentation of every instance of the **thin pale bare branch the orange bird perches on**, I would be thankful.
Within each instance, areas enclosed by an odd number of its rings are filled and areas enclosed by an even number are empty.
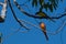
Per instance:
[[[34,24],[32,24],[32,23],[30,23],[30,22],[26,22],[26,21],[24,21],[24,20],[20,20],[20,21],[22,21],[22,22],[24,22],[24,23],[28,23],[28,24],[36,28],[36,29],[41,29],[38,25],[34,25]],[[63,24],[62,26],[59,26],[59,29],[57,29],[57,31],[55,31],[55,32],[50,32],[50,31],[45,31],[45,32],[48,33],[48,34],[55,35],[55,34],[57,34],[58,32],[61,32],[65,25],[66,25],[66,22],[64,22],[64,24]]]

